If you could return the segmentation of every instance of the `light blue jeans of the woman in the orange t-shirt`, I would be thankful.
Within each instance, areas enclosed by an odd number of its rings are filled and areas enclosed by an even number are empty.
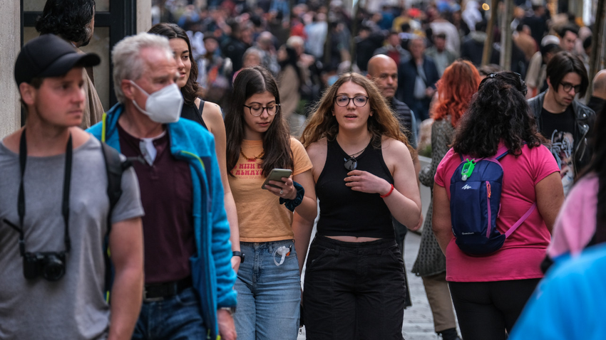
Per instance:
[[[282,260],[280,247],[292,247]],[[245,262],[235,284],[238,340],[295,340],[299,332],[301,277],[293,240],[241,242]],[[276,262],[274,262],[274,260]]]

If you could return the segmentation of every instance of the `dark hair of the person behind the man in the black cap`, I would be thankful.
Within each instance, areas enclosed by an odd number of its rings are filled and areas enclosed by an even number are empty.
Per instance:
[[[36,31],[53,33],[74,43],[86,43],[91,30],[86,27],[95,15],[95,0],[48,0],[36,18]]]

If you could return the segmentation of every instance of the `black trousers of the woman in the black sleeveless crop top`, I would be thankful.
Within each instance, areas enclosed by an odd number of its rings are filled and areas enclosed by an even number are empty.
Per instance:
[[[349,243],[317,235],[304,280],[307,339],[403,339],[405,285],[395,240]]]

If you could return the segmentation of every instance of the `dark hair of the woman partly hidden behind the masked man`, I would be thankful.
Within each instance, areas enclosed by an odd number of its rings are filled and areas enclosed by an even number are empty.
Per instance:
[[[197,83],[197,63],[194,60],[192,54],[192,44],[188,34],[183,31],[176,23],[156,23],[148,33],[158,34],[158,36],[165,36],[168,39],[180,38],[188,43],[188,50],[190,51],[190,62],[192,68],[190,70],[190,78],[188,83],[181,87],[181,93],[183,94],[183,102],[186,105],[194,105],[195,99],[202,95],[200,92],[200,85]]]

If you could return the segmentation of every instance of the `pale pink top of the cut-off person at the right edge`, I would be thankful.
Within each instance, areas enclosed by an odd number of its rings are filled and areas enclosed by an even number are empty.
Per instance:
[[[595,233],[597,189],[600,181],[595,174],[583,177],[572,187],[555,219],[553,239],[547,253],[556,260],[560,255],[578,255]]]

